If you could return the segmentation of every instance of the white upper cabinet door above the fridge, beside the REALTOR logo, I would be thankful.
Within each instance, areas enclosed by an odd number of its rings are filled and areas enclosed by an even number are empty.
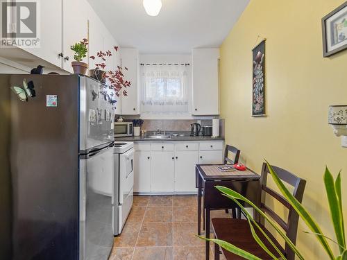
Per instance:
[[[62,0],[42,0],[40,9],[40,48],[23,49],[62,67]]]

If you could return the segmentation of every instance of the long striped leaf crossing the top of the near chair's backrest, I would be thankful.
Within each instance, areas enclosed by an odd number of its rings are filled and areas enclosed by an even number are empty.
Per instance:
[[[271,176],[273,177],[273,181],[276,183],[278,189],[280,189],[281,193],[285,198],[289,201],[291,207],[293,207],[296,212],[303,218],[304,222],[306,223],[307,227],[311,229],[312,232],[318,233],[318,234],[323,234],[321,231],[321,228],[319,225],[316,223],[314,218],[308,213],[308,211],[301,205],[296,198],[288,191],[288,189],[285,187],[285,184],[283,184],[276,174],[276,172],[273,170],[272,166],[269,164],[269,162],[266,161],[266,164],[269,168],[269,172],[271,173]],[[325,252],[328,254],[329,258],[331,260],[335,260],[334,253],[332,252],[330,245],[328,241],[325,239],[323,236],[316,236],[318,239],[319,243],[323,246],[323,249]]]

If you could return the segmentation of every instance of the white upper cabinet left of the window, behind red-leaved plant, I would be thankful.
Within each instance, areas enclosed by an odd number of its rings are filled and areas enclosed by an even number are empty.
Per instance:
[[[126,88],[128,96],[122,97],[122,114],[139,114],[139,53],[137,49],[122,48],[120,55],[124,79],[131,83]]]

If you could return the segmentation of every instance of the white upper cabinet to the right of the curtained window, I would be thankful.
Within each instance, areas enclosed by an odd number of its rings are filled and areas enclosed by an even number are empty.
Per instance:
[[[193,49],[192,78],[192,114],[219,114],[219,49]]]

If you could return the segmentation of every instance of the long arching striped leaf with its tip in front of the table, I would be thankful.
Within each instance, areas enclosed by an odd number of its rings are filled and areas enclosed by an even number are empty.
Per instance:
[[[222,187],[222,186],[216,186],[216,188],[219,191],[221,191],[222,193],[224,193],[228,198],[231,198],[231,199],[235,198],[236,200],[243,200],[248,205],[253,207],[259,214],[261,214],[266,219],[266,221],[274,229],[276,229],[276,232],[278,232],[278,234],[280,234],[280,236],[282,236],[282,239],[284,239],[286,241],[287,245],[289,245],[291,250],[294,251],[294,253],[298,256],[298,258],[301,260],[304,260],[303,255],[301,254],[301,252],[299,252],[298,248],[296,248],[294,243],[291,242],[291,240],[288,238],[288,236],[286,236],[286,234],[283,233],[282,230],[276,224],[274,224],[273,221],[268,216],[266,216],[266,214],[264,214],[264,212],[261,209],[259,209],[253,202],[251,202],[251,200],[248,200],[247,198],[245,198],[241,194],[237,193],[236,191],[232,191],[232,189],[228,189],[228,188]]]

